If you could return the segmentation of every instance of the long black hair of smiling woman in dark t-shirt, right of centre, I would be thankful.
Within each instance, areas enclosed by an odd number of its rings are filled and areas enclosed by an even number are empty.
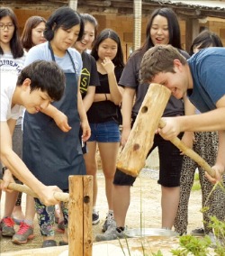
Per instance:
[[[150,30],[151,30],[153,20],[157,15],[163,16],[167,20],[168,32],[169,32],[168,44],[171,44],[177,49],[182,49],[180,26],[179,26],[178,19],[175,12],[171,8],[158,8],[150,15],[150,18],[148,20],[148,24],[146,27],[146,40],[143,46],[139,48],[139,50],[143,51],[144,53],[149,48],[154,46],[153,42],[151,41]]]

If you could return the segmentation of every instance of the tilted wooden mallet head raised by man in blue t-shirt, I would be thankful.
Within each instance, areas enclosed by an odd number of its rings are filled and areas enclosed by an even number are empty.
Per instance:
[[[150,84],[130,132],[128,142],[117,161],[118,169],[133,177],[139,175],[140,169],[145,166],[148,151],[153,145],[159,120],[170,95],[170,90],[166,87]]]

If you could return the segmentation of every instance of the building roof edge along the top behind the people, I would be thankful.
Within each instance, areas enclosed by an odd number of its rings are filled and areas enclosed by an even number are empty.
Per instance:
[[[136,0],[77,0],[77,8],[91,14],[133,14],[133,1]],[[2,5],[17,9],[54,10],[68,5],[69,0],[1,0]],[[171,7],[184,19],[217,17],[225,19],[225,1],[182,1],[182,0],[142,0],[142,14],[148,15],[159,7]]]

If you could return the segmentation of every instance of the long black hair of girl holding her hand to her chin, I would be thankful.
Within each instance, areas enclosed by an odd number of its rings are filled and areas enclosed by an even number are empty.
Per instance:
[[[112,59],[112,62],[117,67],[124,67],[123,62],[123,52],[121,49],[121,40],[118,34],[111,29],[105,29],[97,36],[96,41],[94,42],[94,46],[92,49],[91,55],[94,57],[95,60],[98,60],[98,47],[102,41],[105,39],[110,38],[113,41],[117,43],[117,53],[114,59]]]

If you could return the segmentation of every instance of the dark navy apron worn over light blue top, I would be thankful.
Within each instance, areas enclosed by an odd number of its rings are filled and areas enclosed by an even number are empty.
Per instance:
[[[49,44],[52,60],[53,50]],[[72,129],[62,132],[55,121],[46,114],[25,113],[23,123],[23,161],[43,184],[68,188],[69,175],[85,175],[85,160],[79,140],[80,118],[77,110],[77,76],[65,73],[67,83],[64,95],[52,103],[67,115]],[[48,79],[48,78],[46,78]]]

